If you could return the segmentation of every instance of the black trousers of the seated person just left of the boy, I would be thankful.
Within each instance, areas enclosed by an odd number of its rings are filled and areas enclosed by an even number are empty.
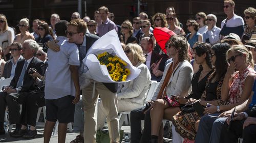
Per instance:
[[[22,113],[20,115],[20,123],[27,126],[36,125],[36,118],[38,108],[45,106],[45,93],[34,93],[26,96],[22,106]]]

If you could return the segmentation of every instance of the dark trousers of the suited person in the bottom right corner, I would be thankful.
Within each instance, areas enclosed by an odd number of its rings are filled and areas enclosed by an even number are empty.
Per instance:
[[[256,125],[249,125],[243,129],[244,121],[232,122],[229,131],[227,131],[228,125],[225,123],[221,130],[220,143],[238,142],[238,138],[243,138],[243,143],[255,142]]]

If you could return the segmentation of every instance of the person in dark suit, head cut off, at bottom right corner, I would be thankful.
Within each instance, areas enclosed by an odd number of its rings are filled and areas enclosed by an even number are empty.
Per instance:
[[[256,99],[256,92],[255,89],[255,82],[253,87],[253,97],[252,99]],[[248,101],[250,102],[250,100]],[[249,107],[244,112],[235,113],[233,120],[230,122],[230,117],[227,119],[227,122],[222,126],[221,130],[221,143],[229,143],[229,142],[238,142],[238,138],[243,138],[243,143],[247,142],[255,142],[256,140],[256,104],[255,101],[252,100],[252,104],[254,106],[252,108]],[[247,102],[243,103],[247,104]],[[243,106],[242,104],[242,106]],[[241,106],[241,105],[239,105]],[[239,106],[237,106],[237,110]],[[245,105],[245,107],[248,107],[248,105]],[[230,128],[228,130],[228,126],[230,125]]]

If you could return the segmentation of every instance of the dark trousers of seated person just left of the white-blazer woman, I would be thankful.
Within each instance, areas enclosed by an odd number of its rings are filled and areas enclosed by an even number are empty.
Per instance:
[[[150,110],[144,114],[145,106],[131,111],[131,143],[150,142],[151,140],[151,117]],[[144,120],[144,130],[141,134],[141,121]]]

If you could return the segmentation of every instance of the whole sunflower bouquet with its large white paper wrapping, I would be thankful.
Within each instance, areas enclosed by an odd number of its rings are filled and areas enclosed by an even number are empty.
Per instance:
[[[115,30],[100,37],[87,51],[82,62],[79,76],[81,88],[92,80],[107,83],[131,81],[141,71],[125,55]]]

